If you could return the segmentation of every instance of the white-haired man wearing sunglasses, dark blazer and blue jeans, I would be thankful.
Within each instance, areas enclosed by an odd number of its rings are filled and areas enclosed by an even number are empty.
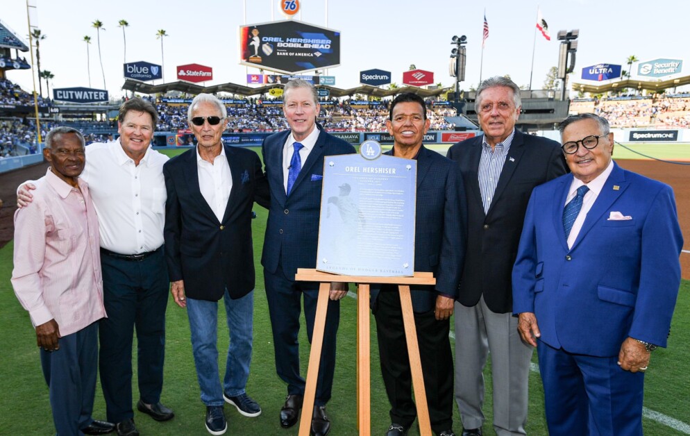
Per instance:
[[[261,414],[245,388],[254,308],[251,208],[254,201],[268,207],[268,183],[254,151],[223,144],[228,112],[219,99],[197,95],[187,119],[197,145],[163,167],[165,253],[171,293],[190,319],[206,430],[222,435],[228,428],[224,403],[245,417]],[[222,386],[216,344],[221,299],[230,330]]]

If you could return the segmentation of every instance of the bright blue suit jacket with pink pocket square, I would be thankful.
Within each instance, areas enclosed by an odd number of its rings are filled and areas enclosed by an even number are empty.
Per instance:
[[[614,164],[568,249],[562,213],[572,175],[538,186],[513,269],[513,312],[534,312],[541,340],[618,355],[626,337],[666,346],[683,239],[673,190]],[[621,212],[628,220],[609,220]]]

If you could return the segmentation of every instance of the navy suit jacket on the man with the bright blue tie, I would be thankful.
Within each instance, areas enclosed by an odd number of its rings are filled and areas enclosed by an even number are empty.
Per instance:
[[[319,138],[303,162],[289,196],[285,194],[283,179],[283,146],[290,131],[270,135],[261,146],[271,187],[261,265],[271,274],[280,265],[289,280],[294,280],[298,268],[317,266],[323,157],[355,153],[355,147],[348,142],[329,135],[321,126],[319,130]]]

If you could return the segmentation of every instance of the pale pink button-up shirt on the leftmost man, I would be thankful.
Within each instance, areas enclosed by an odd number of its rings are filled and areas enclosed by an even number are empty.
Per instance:
[[[61,336],[106,317],[98,218],[88,185],[78,184],[48,169],[15,213],[12,287],[33,326],[55,319]]]

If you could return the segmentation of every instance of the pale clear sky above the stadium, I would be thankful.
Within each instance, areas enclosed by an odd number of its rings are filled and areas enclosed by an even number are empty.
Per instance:
[[[0,19],[26,38],[25,0],[0,3]],[[206,85],[244,84],[246,74],[258,73],[256,68],[239,65],[238,28],[285,19],[278,10],[278,0],[246,1],[246,8],[242,0],[31,3],[36,6],[31,22],[47,35],[40,42],[40,56],[42,69],[55,76],[51,90],[88,87],[85,35],[92,38],[88,46],[91,85],[103,89],[98,38],[92,27],[96,19],[103,22],[106,30],[100,33],[101,54],[110,97],[124,94],[120,89],[125,80],[123,32],[118,26],[121,19],[129,23],[125,29],[127,62],[144,60],[160,65],[161,44],[156,33],[164,29],[168,35],[163,41],[165,81],[176,81],[176,66],[198,63],[213,68],[213,80]],[[535,44],[538,7],[548,24],[551,40],[537,33]],[[580,81],[583,67],[598,63],[619,64],[628,69],[625,64],[631,55],[641,61],[681,59],[684,74],[690,74],[689,10],[684,0],[632,0],[624,4],[598,0],[301,0],[301,16],[297,19],[341,32],[340,66],[328,69],[328,75],[336,78],[336,87],[355,87],[360,71],[375,68],[392,72],[392,81],[401,85],[403,72],[411,64],[434,72],[435,83],[452,86],[455,78],[448,74],[448,60],[454,47],[451,38],[466,35],[466,80],[460,84],[461,89],[476,87],[480,69],[482,78],[510,74],[518,85],[528,85],[532,47],[532,89],[541,89],[548,69],[557,65],[557,32],[575,28],[580,30],[580,38],[570,82]],[[480,62],[485,13],[489,36]],[[28,52],[20,56],[30,61]],[[7,76],[24,90],[31,90],[30,71],[9,71]],[[633,65],[633,72],[636,71],[637,65]]]

